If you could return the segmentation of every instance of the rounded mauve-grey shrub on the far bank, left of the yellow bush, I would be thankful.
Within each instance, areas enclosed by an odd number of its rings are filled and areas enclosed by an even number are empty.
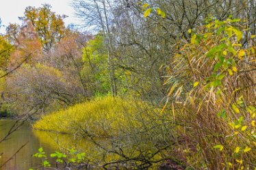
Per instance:
[[[79,85],[68,82],[60,70],[39,63],[23,64],[6,84],[5,102],[19,115],[55,111],[81,98]]]

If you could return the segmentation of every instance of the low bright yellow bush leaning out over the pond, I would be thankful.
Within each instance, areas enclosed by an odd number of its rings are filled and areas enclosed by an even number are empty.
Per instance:
[[[96,98],[90,102],[75,104],[66,110],[44,115],[34,124],[34,128],[71,134],[86,129],[90,133],[107,137],[115,134],[120,126],[141,126],[136,117],[142,116],[138,112],[147,107],[146,103],[145,106],[142,104],[118,97]]]

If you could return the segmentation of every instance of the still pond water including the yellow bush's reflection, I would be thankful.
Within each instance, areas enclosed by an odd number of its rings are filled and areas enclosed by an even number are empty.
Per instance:
[[[15,123],[14,120],[0,120],[0,138],[2,138],[8,130]],[[100,145],[103,145],[107,150],[112,150],[111,141],[106,139],[96,139]],[[29,142],[29,143],[27,143]],[[67,149],[75,148],[78,152],[84,152],[86,159],[94,162],[92,164],[104,164],[104,162],[111,162],[112,160],[118,160],[119,156],[116,154],[107,153],[97,145],[94,145],[92,141],[86,139],[79,139],[73,137],[70,134],[57,134],[54,132],[45,132],[39,130],[33,130],[29,123],[25,123],[19,130],[14,132],[6,141],[0,143],[0,165],[3,164],[8,158],[24,144],[25,147],[16,154],[4,167],[0,170],[28,170],[29,168],[37,169],[42,165],[40,158],[32,157],[33,154],[38,152],[39,147],[43,147],[48,158],[50,154],[59,152],[68,152]],[[140,152],[136,153],[135,150],[131,150],[132,147],[123,148],[123,152],[127,156],[136,156]],[[55,165],[55,160],[51,158],[49,160],[52,165]]]

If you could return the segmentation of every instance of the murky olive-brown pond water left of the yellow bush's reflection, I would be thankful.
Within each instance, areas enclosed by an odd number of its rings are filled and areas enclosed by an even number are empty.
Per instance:
[[[9,132],[14,123],[14,120],[0,120],[1,139]],[[27,145],[25,145],[16,156],[13,156],[25,143],[27,143]],[[29,169],[38,167],[41,162],[33,158],[32,155],[37,152],[41,144],[42,143],[40,143],[32,133],[29,123],[25,122],[23,126],[0,143],[0,152],[2,153],[0,165],[13,156],[12,160],[3,166],[3,169]],[[48,153],[53,151],[53,147],[49,147],[48,145],[44,146],[44,144],[42,144],[42,147],[44,147],[45,151]]]

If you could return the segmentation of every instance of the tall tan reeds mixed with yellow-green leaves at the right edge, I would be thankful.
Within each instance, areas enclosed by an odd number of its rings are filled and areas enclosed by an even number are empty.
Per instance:
[[[245,25],[245,24],[244,24]],[[168,98],[192,169],[255,169],[255,36],[239,19],[210,20],[178,44]]]

